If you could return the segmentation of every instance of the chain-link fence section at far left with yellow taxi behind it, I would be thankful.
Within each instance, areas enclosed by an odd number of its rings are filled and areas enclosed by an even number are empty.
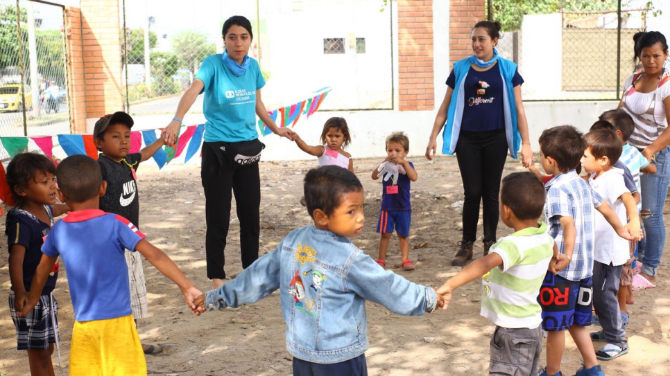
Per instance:
[[[63,19],[62,6],[0,0],[2,136],[70,132]]]

